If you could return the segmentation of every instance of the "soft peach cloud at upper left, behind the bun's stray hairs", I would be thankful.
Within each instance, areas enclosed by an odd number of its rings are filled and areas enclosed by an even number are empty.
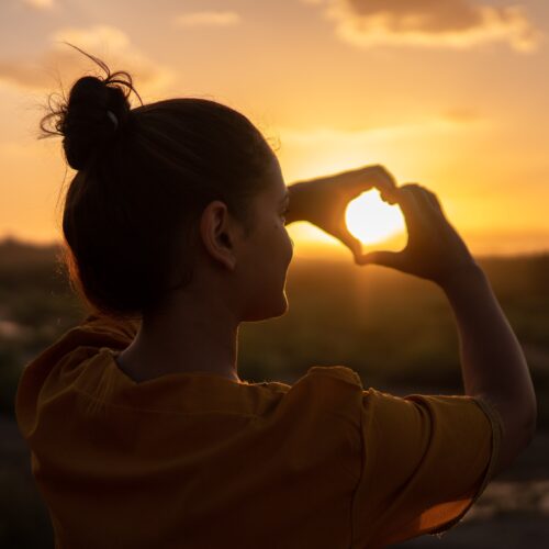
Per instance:
[[[44,91],[58,85],[58,75],[63,75],[65,81],[74,81],[90,74],[90,68],[94,72],[99,70],[92,61],[63,42],[101,58],[113,71],[127,70],[135,77],[137,91],[142,85],[148,91],[161,90],[175,79],[171,69],[142,54],[125,33],[113,26],[97,25],[55,32],[45,52],[35,58],[0,58],[0,83]]]

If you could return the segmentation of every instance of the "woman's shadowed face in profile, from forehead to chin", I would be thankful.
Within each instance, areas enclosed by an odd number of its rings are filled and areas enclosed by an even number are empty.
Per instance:
[[[288,188],[274,155],[265,177],[266,188],[253,199],[253,225],[240,259],[242,290],[246,295],[243,321],[280,316],[288,309],[284,285],[293,242],[284,219]]]

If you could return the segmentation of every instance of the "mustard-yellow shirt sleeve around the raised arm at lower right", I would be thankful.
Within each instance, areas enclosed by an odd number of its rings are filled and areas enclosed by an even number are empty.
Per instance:
[[[502,423],[472,396],[362,392],[357,547],[384,547],[457,524],[491,480]]]

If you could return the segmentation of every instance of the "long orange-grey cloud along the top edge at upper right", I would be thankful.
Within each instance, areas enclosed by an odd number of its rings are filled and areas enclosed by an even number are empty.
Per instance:
[[[506,42],[517,52],[539,47],[541,32],[520,5],[493,7],[473,0],[324,0],[336,34],[359,47],[411,45],[466,49]]]

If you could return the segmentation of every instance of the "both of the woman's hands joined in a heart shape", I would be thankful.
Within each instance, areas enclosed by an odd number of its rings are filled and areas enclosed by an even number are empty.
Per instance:
[[[407,244],[402,251],[371,251],[347,227],[345,211],[361,193],[378,189],[389,204],[397,203],[406,222]],[[290,211],[338,238],[352,253],[357,265],[377,264],[408,274],[446,284],[477,262],[457,231],[447,221],[435,193],[416,183],[397,187],[382,166],[345,171],[299,183],[292,193]]]

